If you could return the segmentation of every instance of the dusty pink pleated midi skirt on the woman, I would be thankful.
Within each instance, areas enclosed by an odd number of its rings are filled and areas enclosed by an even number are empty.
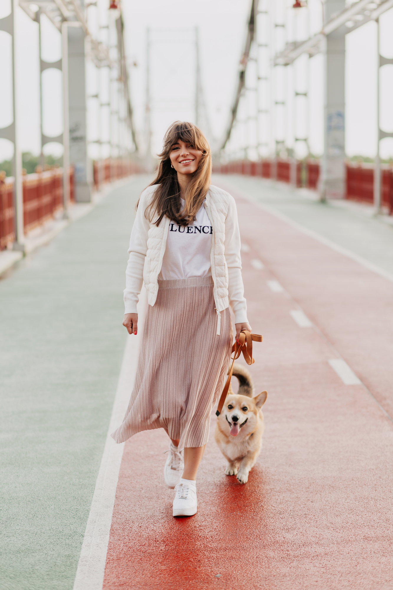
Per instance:
[[[165,428],[180,447],[202,447],[224,386],[232,349],[229,309],[217,313],[212,277],[158,281],[148,306],[134,389],[123,423],[111,435]]]

